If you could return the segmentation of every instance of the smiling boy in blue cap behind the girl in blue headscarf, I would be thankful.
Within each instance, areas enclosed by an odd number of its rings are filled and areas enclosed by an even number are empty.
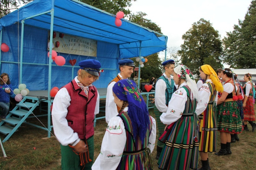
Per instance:
[[[105,115],[106,122],[109,123],[110,119],[116,115],[118,115],[119,107],[114,102],[114,96],[112,92],[112,88],[116,82],[122,79],[128,79],[131,77],[133,73],[133,69],[135,67],[134,62],[130,59],[120,60],[118,62],[120,73],[118,73],[117,77],[115,77],[108,85],[107,94],[106,94],[106,107],[105,107]]]

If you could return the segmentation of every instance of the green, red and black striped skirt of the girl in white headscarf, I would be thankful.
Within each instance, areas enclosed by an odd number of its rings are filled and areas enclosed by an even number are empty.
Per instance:
[[[165,140],[158,160],[159,169],[186,170],[197,169],[198,162],[198,125],[197,115],[194,113],[183,114],[161,136]]]

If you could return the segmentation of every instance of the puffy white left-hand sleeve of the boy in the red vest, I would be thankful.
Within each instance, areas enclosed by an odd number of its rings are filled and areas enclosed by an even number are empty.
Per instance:
[[[79,138],[78,134],[68,125],[68,121],[66,119],[70,101],[71,99],[68,94],[68,90],[65,87],[61,88],[57,92],[53,101],[53,130],[56,138],[63,146],[67,146]]]

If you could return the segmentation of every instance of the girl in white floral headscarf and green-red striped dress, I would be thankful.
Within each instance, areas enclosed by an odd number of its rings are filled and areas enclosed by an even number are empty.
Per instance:
[[[185,65],[173,70],[177,90],[173,93],[167,112],[160,116],[167,128],[159,138],[165,145],[158,160],[159,169],[197,169],[198,128],[195,113],[199,101],[198,88],[191,71]]]

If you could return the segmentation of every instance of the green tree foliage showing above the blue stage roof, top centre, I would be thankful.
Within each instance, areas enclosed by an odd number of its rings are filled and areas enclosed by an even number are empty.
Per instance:
[[[88,5],[99,8],[111,14],[116,14],[119,11],[123,11],[125,16],[129,16],[131,11],[128,9],[132,4],[132,1],[136,0],[80,0]]]

